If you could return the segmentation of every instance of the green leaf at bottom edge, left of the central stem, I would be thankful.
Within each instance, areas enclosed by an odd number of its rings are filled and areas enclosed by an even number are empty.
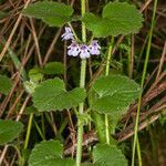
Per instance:
[[[74,166],[71,158],[63,159],[63,147],[58,141],[44,141],[33,148],[29,166]]]

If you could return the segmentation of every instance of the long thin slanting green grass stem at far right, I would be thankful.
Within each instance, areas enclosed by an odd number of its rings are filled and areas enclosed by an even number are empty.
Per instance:
[[[142,75],[142,83],[141,83],[141,87],[142,89],[144,86],[146,71],[147,71],[148,58],[149,58],[149,52],[151,52],[152,35],[153,35],[153,30],[154,30],[154,25],[155,25],[154,22],[155,22],[156,8],[157,8],[157,0],[154,1],[153,18],[152,18],[152,24],[151,24],[151,30],[149,30],[149,38],[148,38],[148,43],[147,43],[147,51],[146,51],[144,70],[143,70],[143,75]],[[142,93],[141,93],[139,98],[138,98],[138,106],[137,106],[135,128],[134,128],[134,143],[133,143],[133,154],[132,154],[132,166],[134,166],[134,163],[135,163],[135,148],[136,148],[136,144],[138,142],[137,132],[138,132],[141,104],[142,104]],[[141,149],[137,151],[137,155],[141,156]],[[141,165],[142,165],[142,162],[139,160],[139,166]]]

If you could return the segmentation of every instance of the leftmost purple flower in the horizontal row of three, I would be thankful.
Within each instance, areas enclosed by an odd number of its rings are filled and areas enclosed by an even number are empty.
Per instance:
[[[80,46],[75,41],[72,41],[71,45],[69,45],[68,49],[69,55],[77,56],[80,53]]]

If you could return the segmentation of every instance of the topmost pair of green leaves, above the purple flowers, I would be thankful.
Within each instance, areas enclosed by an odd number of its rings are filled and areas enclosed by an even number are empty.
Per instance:
[[[64,3],[42,1],[30,4],[23,13],[42,19],[50,27],[62,27],[72,21],[73,9]],[[107,37],[138,32],[143,15],[135,6],[126,2],[110,2],[104,7],[102,18],[90,12],[81,20],[86,23],[86,28],[94,37]]]

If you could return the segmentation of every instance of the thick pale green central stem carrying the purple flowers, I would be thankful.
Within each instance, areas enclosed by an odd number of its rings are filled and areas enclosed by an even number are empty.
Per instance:
[[[81,14],[85,13],[85,0],[81,0]],[[82,22],[82,41],[86,42],[86,27],[85,23]],[[86,60],[81,61],[81,73],[80,73],[80,87],[84,89],[85,86],[85,74],[86,74]],[[83,114],[84,103],[80,103],[79,113]],[[81,166],[82,158],[82,141],[83,141],[83,122],[77,120],[77,149],[76,149],[76,166]]]

